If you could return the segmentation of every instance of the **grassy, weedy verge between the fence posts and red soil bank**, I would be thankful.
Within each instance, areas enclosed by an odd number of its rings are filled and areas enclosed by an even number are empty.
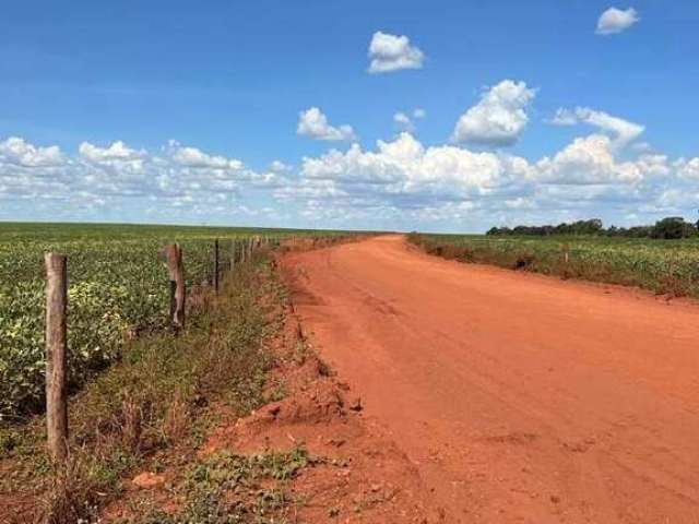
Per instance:
[[[265,404],[265,379],[275,365],[265,340],[280,320],[263,297],[274,296],[275,285],[259,252],[226,276],[217,297],[193,297],[197,306],[179,336],[130,341],[119,361],[71,398],[66,469],[48,464],[43,417],[0,428],[0,497],[28,498],[49,523],[91,522],[125,478],[145,466],[164,467],[168,450],[191,460],[221,412],[214,406],[242,416]]]

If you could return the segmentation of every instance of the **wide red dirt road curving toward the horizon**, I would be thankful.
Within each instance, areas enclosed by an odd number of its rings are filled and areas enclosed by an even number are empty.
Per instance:
[[[310,341],[445,522],[699,523],[699,306],[399,236],[283,263]]]

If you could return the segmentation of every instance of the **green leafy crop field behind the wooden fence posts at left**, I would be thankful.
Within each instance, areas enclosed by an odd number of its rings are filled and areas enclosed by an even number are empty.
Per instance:
[[[68,255],[71,388],[119,357],[123,341],[166,325],[165,243],[183,250],[188,288],[211,278],[213,242],[229,260],[234,241],[251,235],[333,231],[0,223],[0,421],[44,402],[44,252]],[[239,250],[241,242],[238,242]]]

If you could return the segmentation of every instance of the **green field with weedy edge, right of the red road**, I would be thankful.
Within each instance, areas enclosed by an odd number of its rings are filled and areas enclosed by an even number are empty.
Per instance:
[[[639,286],[699,298],[699,239],[416,235],[425,251],[463,262]],[[567,255],[566,255],[567,253]]]

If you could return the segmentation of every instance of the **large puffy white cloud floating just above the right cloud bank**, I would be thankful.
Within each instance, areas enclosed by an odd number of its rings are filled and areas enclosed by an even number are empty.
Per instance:
[[[526,128],[526,109],[535,95],[536,91],[524,82],[503,80],[461,116],[452,141],[493,146],[514,144]]]

